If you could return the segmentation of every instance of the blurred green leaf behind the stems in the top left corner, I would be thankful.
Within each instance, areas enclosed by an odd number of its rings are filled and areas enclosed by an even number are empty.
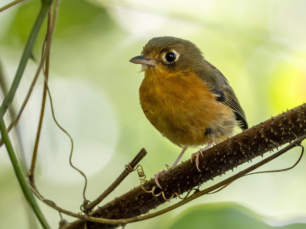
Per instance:
[[[39,9],[40,0],[33,0],[21,4],[9,31],[0,42],[3,44],[16,44],[16,38],[20,38],[22,42],[25,42]],[[107,32],[113,24],[102,6],[93,5],[84,0],[62,1],[54,36],[62,36],[62,33],[69,28],[73,28],[72,30],[76,35],[82,35],[88,31]],[[42,32],[40,32],[38,38],[39,41],[43,41],[46,28],[47,22],[45,20],[41,30]],[[69,40],[71,39],[73,39],[73,36],[69,37]]]

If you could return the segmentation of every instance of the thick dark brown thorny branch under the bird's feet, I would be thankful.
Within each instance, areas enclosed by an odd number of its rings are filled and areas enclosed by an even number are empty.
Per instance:
[[[203,172],[199,172],[195,163],[188,160],[163,173],[159,177],[159,183],[163,187],[166,198],[169,198],[174,192],[182,194],[244,162],[305,135],[306,104],[303,104],[205,151],[204,157],[200,157],[200,169]],[[143,186],[149,191],[155,186],[155,182],[150,180]],[[159,188],[156,188],[156,193],[160,191]],[[108,219],[129,218],[147,213],[148,210],[164,202],[166,200],[162,196],[153,197],[151,193],[145,192],[138,186],[88,215]],[[63,228],[84,228],[84,225],[83,220],[76,220]],[[87,222],[88,229],[117,226]]]

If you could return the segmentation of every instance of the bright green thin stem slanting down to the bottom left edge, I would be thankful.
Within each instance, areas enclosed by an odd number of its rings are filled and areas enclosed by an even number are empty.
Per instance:
[[[24,178],[24,174],[22,173],[21,167],[19,165],[16,154],[14,152],[11,140],[9,139],[9,134],[6,131],[6,126],[5,126],[5,123],[2,117],[0,117],[0,131],[1,131],[3,142],[5,143],[5,146],[6,146],[6,150],[9,154],[9,158],[11,159],[11,162],[13,164],[13,168],[17,176],[17,180],[19,181],[19,184],[21,186],[21,189],[23,191],[25,198],[27,199],[29,205],[33,209],[35,215],[37,216],[43,228],[50,229],[50,226],[48,225],[47,220],[43,216],[43,213],[40,211],[39,206],[34,198],[34,195],[32,194],[32,191],[30,187],[28,186],[27,181]]]

